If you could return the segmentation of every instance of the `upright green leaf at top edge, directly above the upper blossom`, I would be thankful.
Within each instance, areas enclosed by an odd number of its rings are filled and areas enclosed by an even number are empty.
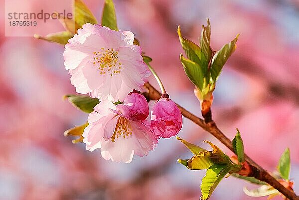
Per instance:
[[[118,31],[115,8],[112,0],[105,0],[103,15],[102,15],[102,26],[107,26],[111,30]]]

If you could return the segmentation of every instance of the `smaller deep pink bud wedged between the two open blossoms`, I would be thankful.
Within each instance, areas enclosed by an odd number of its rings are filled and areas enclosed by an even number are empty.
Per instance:
[[[125,98],[123,105],[128,108],[131,117],[137,120],[145,120],[149,115],[149,105],[146,98],[136,92],[129,94]]]

